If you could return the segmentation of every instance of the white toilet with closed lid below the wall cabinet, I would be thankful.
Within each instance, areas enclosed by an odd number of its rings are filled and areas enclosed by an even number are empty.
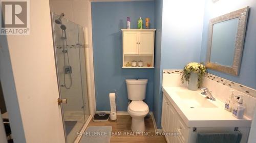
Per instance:
[[[132,131],[144,132],[144,117],[148,114],[148,106],[143,100],[146,97],[147,79],[126,79],[128,99],[132,100],[127,111],[132,117]]]

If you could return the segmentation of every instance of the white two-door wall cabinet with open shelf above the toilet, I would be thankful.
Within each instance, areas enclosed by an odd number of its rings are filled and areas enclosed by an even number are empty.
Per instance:
[[[122,29],[122,68],[154,68],[155,29]],[[126,66],[132,61],[142,61],[143,67]]]

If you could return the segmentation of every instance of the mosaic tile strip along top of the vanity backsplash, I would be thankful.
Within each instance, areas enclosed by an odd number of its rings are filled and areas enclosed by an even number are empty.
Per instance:
[[[163,70],[163,74],[181,74],[182,72],[183,72],[183,70]],[[226,85],[229,88],[232,88],[234,90],[240,91],[244,94],[247,94],[247,95],[250,95],[250,96],[256,98],[256,90],[255,89],[248,88],[242,84],[229,81],[227,79],[221,78],[219,76],[216,76],[216,75],[213,75],[210,73],[205,73],[204,77],[209,78],[213,81],[218,82],[219,84]]]

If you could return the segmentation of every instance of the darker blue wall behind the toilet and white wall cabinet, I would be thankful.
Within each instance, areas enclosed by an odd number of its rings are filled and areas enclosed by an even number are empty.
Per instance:
[[[131,17],[131,28],[137,19],[151,18],[154,28],[154,1],[95,2],[92,6],[92,33],[96,109],[110,110],[109,93],[117,90],[117,111],[127,111],[125,79],[147,78],[145,102],[153,110],[154,69],[122,69],[122,33],[126,17]],[[144,19],[143,19],[144,20]]]

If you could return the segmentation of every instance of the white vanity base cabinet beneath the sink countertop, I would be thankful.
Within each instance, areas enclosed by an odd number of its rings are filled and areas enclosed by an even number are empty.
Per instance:
[[[234,127],[187,127],[167,96],[163,93],[162,131],[165,133],[179,133],[179,136],[166,135],[165,138],[168,143],[196,143],[198,132],[234,131]],[[250,128],[238,127],[238,130],[243,134],[241,143],[246,143]]]

